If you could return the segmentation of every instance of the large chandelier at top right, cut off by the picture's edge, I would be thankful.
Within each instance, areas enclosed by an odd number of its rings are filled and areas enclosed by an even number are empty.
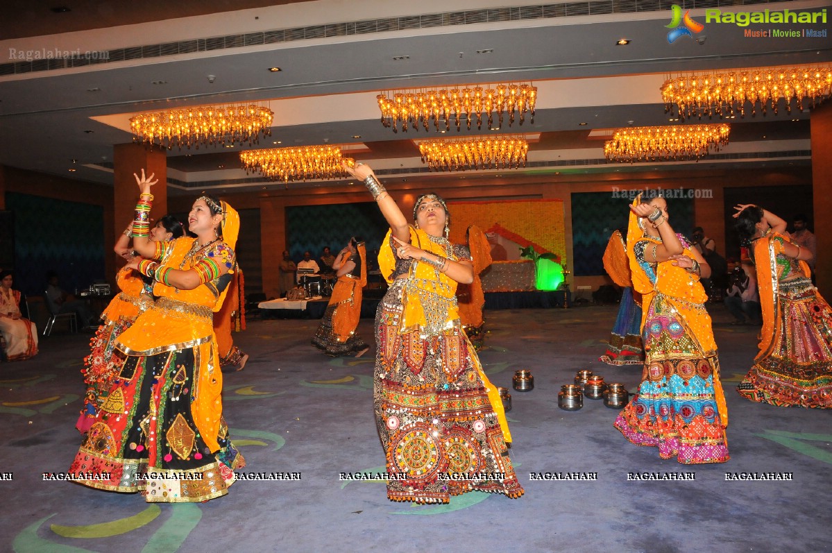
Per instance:
[[[745,116],[746,103],[750,104],[751,116],[756,114],[758,106],[763,115],[767,106],[776,115],[777,104],[781,99],[785,101],[789,113],[792,101],[802,111],[805,98],[815,107],[829,99],[830,94],[830,67],[735,69],[676,77],[661,86],[665,112],[672,113],[676,104],[676,111],[682,121],[686,117],[701,118],[706,115],[710,118],[714,114],[720,118],[733,118],[737,112],[742,117]]]

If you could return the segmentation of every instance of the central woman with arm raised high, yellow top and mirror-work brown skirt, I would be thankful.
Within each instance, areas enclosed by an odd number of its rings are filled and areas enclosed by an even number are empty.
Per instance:
[[[387,470],[404,479],[388,481],[388,498],[521,496],[498,390],[460,328],[454,292],[473,281],[473,269],[468,248],[448,241],[444,200],[419,196],[410,227],[368,165],[345,170],[364,181],[390,225],[379,252],[390,287],[375,319],[374,408]]]

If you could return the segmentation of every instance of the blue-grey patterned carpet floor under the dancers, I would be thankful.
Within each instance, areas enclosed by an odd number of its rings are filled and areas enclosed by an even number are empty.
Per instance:
[[[317,320],[252,320],[235,340],[250,360],[226,374],[225,418],[245,472],[299,480],[238,481],[202,504],[146,504],[43,473],[66,471],[80,436],[79,373],[89,334],[53,334],[29,361],[0,364],[0,551],[830,551],[832,412],[748,402],[735,386],[756,353],[756,328],[711,309],[730,425],[729,462],[683,466],[612,427],[617,411],[586,399],[557,407],[562,384],[589,368],[636,387],[637,366],[604,352],[617,306],[487,312],[489,378],[511,388],[512,458],[526,495],[469,493],[447,506],[388,501],[384,483],[342,472],[384,471],[372,403],[373,353],[328,358],[310,345]],[[372,320],[359,326],[372,341]],[[530,473],[595,473],[531,480]],[[695,480],[628,479],[693,473]],[[726,480],[776,473],[791,480]],[[11,479],[10,479],[11,477]]]

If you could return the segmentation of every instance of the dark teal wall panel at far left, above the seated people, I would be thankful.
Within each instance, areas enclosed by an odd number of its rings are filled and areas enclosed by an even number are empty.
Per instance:
[[[14,212],[15,288],[43,294],[49,270],[70,293],[106,281],[101,205],[9,192],[6,208]]]

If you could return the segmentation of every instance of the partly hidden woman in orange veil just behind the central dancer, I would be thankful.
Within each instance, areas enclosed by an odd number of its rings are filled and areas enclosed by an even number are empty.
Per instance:
[[[491,264],[491,245],[488,244],[485,233],[477,225],[469,226],[465,231],[465,237],[473,264],[473,282],[457,286],[459,321],[463,325],[468,340],[479,351],[485,345],[485,319],[483,318],[485,294],[479,274],[488,269]]]

